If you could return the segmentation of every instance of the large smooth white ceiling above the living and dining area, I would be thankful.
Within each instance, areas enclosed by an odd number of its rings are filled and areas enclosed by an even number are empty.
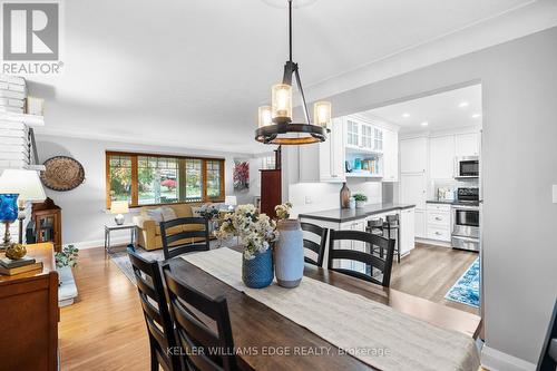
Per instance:
[[[63,75],[29,77],[38,82],[31,92],[47,98],[43,131],[268,150],[253,130],[287,57],[286,10],[268,4],[277,1],[63,1]],[[294,59],[309,88],[532,3],[303,1],[294,11]]]

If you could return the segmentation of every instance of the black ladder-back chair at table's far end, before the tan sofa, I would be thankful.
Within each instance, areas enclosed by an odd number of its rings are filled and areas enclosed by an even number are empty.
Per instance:
[[[160,237],[165,260],[195,251],[208,251],[208,221],[204,217],[180,217],[160,222]]]

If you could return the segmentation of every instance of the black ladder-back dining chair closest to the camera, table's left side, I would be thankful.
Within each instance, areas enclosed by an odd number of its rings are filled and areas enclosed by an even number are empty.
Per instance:
[[[188,286],[172,273],[169,264],[165,264],[163,271],[184,363],[190,370],[238,370],[226,299],[218,296],[213,300]],[[194,310],[211,319],[216,332],[199,320],[202,315]]]

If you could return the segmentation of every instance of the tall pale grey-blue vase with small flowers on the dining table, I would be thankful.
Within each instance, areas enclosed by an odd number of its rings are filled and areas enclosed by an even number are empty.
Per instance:
[[[304,275],[304,241],[299,219],[291,219],[291,203],[275,206],[278,219],[278,241],[275,244],[276,283],[283,287],[296,287]]]

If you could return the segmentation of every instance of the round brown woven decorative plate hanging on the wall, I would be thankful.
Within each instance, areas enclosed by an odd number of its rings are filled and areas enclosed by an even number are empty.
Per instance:
[[[81,164],[68,156],[56,156],[45,162],[45,172],[41,172],[42,184],[53,191],[71,191],[85,180],[85,170]]]

